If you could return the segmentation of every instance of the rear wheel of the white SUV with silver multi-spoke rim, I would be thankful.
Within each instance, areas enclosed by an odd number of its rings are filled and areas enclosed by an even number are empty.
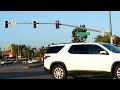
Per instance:
[[[55,65],[52,69],[52,76],[54,79],[66,79],[66,70],[61,65]]]

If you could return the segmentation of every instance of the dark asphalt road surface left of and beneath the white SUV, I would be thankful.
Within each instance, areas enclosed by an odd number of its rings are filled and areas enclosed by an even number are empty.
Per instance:
[[[37,64],[36,64],[37,65]],[[0,66],[0,79],[53,79],[51,75],[44,72],[43,65],[39,67],[28,67],[35,66],[29,65],[8,65]],[[67,79],[74,79],[68,76]],[[77,79],[112,79],[110,77],[78,77]]]

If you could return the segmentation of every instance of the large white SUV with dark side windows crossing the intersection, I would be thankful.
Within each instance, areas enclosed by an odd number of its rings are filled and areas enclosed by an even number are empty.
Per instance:
[[[109,43],[51,45],[44,56],[44,71],[55,79],[87,74],[120,79],[120,49]]]

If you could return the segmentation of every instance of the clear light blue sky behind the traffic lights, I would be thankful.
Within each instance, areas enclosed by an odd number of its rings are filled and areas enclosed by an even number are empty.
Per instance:
[[[120,11],[112,11],[112,31],[120,36]],[[73,27],[39,24],[33,28],[32,24],[17,24],[4,28],[4,20],[16,22],[60,23],[70,25],[86,25],[86,28],[109,31],[108,11],[0,11],[0,47],[5,44],[25,44],[32,47],[47,46],[51,43],[71,42]],[[90,32],[87,38],[92,42],[100,33]]]

